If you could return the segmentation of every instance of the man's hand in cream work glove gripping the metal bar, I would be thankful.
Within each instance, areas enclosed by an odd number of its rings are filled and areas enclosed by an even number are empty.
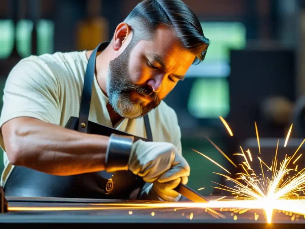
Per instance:
[[[171,143],[138,140],[131,149],[129,169],[143,180],[152,183],[146,190],[150,199],[178,201],[181,197],[173,189],[187,184],[190,174],[188,162]]]

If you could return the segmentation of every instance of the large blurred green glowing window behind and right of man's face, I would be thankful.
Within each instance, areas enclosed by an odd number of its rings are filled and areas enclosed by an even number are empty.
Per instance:
[[[230,49],[243,49],[246,46],[246,28],[238,22],[202,22],[201,26],[204,35],[210,39],[210,47],[201,68],[194,67],[192,71],[193,77],[197,79],[188,98],[188,111],[196,118],[217,118],[219,115],[227,117],[230,111],[230,92],[226,78],[229,69],[219,70],[221,66],[229,68]],[[217,74],[213,74],[213,69]]]

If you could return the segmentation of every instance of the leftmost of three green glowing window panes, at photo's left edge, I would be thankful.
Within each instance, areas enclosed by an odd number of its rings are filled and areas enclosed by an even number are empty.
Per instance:
[[[6,59],[12,53],[14,42],[14,23],[12,20],[0,20],[0,59]]]

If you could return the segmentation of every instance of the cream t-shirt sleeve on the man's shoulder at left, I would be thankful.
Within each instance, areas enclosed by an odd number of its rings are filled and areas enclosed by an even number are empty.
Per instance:
[[[59,83],[46,63],[38,58],[21,60],[5,82],[0,128],[5,122],[18,117],[59,124],[58,94]],[[0,145],[4,150],[2,132]]]

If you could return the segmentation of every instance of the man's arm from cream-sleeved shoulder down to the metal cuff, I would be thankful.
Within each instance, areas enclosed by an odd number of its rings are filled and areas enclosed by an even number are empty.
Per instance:
[[[104,170],[109,137],[58,125],[59,83],[38,60],[20,62],[9,74],[0,118],[9,162],[54,175]]]

